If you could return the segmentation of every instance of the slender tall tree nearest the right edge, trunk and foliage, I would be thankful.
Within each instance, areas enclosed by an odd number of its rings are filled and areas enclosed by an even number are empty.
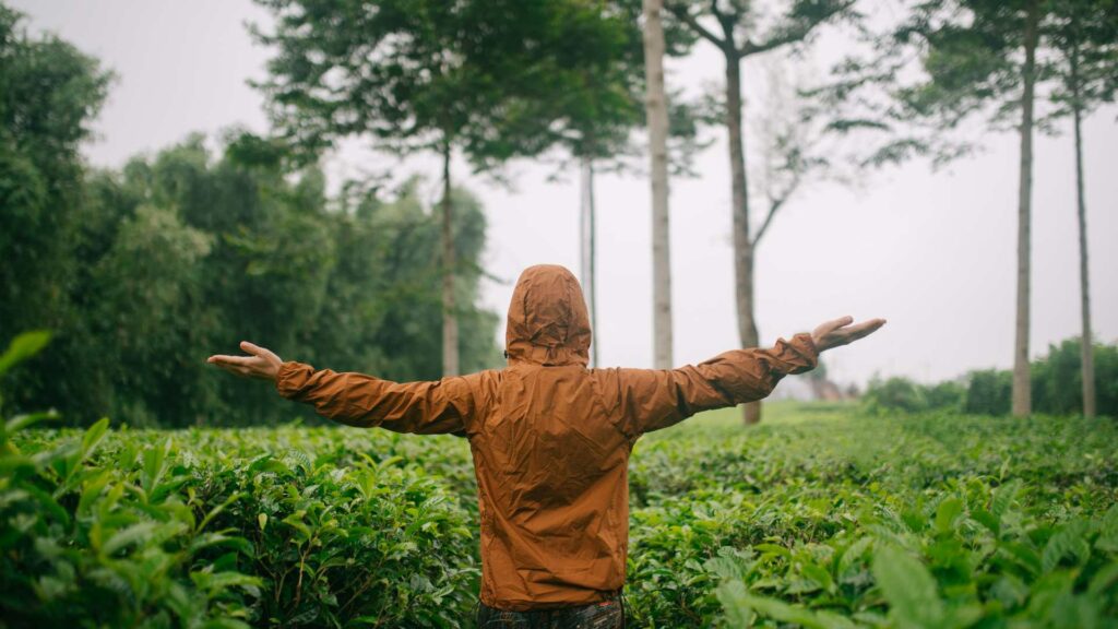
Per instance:
[[[1096,414],[1095,348],[1091,330],[1091,290],[1087,253],[1087,184],[1083,178],[1083,118],[1099,104],[1112,102],[1118,88],[1118,2],[1067,0],[1054,6],[1053,68],[1059,83],[1053,95],[1059,105],[1052,116],[1071,116],[1076,144],[1076,214],[1079,226],[1079,294],[1082,320],[1082,411]]]

